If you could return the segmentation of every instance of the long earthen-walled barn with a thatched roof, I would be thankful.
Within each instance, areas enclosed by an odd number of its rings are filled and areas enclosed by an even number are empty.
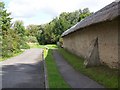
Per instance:
[[[62,34],[63,48],[85,58],[88,66],[118,68],[120,0],[105,6]]]

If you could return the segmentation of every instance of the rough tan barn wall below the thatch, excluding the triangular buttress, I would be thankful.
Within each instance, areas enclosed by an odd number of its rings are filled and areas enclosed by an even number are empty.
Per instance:
[[[97,37],[100,62],[116,68],[118,67],[117,24],[117,19],[115,19],[77,30],[63,37],[63,47],[86,58],[91,42]]]

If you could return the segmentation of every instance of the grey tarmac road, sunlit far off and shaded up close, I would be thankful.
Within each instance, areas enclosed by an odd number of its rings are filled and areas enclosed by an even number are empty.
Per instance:
[[[42,49],[29,49],[3,61],[0,72],[2,88],[44,88]]]

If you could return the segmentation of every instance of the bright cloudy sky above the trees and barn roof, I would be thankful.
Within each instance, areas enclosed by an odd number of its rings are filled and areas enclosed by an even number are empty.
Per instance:
[[[96,12],[114,0],[0,0],[11,12],[12,22],[22,20],[24,25],[45,24],[62,12],[89,8]]]

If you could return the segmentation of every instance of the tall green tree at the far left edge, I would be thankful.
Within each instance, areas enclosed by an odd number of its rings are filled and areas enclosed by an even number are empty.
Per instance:
[[[8,57],[13,53],[13,41],[11,37],[11,18],[10,13],[4,8],[4,3],[0,2],[0,29],[2,37],[2,56]],[[9,42],[9,43],[8,43]]]

